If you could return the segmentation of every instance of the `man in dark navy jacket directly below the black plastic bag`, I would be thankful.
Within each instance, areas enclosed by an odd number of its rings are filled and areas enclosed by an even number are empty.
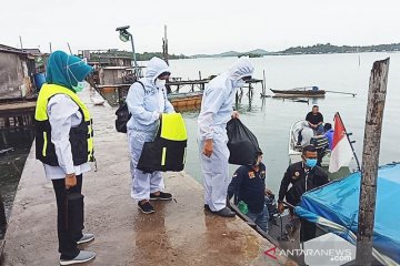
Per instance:
[[[267,233],[269,212],[264,204],[264,195],[272,193],[266,190],[266,165],[261,160],[260,152],[254,165],[242,165],[236,171],[228,187],[228,197],[234,195],[234,204],[243,202],[248,209],[244,215]]]

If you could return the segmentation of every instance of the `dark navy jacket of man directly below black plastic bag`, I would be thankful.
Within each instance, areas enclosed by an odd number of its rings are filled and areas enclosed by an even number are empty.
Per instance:
[[[233,174],[228,187],[228,196],[236,195],[234,203],[243,201],[251,213],[261,213],[264,206],[266,165],[261,163],[259,171],[252,166],[240,166]]]

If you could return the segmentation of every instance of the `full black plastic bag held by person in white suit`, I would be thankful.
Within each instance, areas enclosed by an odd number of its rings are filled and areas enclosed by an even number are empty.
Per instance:
[[[257,137],[239,119],[231,119],[227,124],[229,163],[253,165],[261,149]]]

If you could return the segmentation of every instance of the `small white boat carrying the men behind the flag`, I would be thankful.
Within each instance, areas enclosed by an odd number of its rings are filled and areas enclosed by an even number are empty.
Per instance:
[[[290,131],[289,131],[289,164],[293,164],[297,162],[301,161],[301,151],[302,151],[302,146],[297,145],[298,143],[298,136],[299,136],[299,131],[302,129],[301,124],[304,123],[306,120],[299,120],[297,122],[294,122],[291,126],[290,126]],[[321,166],[329,166],[329,161],[330,161],[330,150],[326,150],[323,157],[322,157],[322,162],[321,162]]]

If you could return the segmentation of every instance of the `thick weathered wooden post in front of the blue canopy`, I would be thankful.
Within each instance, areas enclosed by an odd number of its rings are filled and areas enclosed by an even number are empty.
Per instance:
[[[389,61],[373,63],[369,83],[366,131],[361,165],[360,207],[356,265],[371,265],[377,176]]]

